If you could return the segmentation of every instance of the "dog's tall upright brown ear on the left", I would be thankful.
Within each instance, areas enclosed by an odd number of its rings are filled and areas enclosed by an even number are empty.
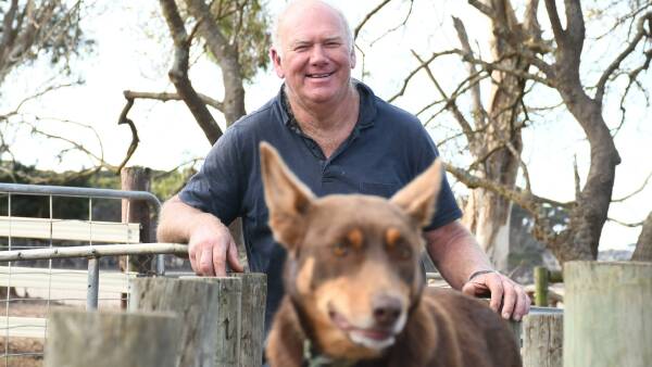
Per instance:
[[[264,141],[260,148],[269,228],[276,241],[292,250],[303,237],[303,222],[314,194],[290,172],[276,149]]]

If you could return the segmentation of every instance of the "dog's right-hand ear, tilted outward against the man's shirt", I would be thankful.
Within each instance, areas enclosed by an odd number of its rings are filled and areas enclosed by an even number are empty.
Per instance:
[[[417,226],[427,226],[435,214],[435,203],[441,189],[441,160],[437,159],[408,186],[394,193],[390,202],[408,213]]]

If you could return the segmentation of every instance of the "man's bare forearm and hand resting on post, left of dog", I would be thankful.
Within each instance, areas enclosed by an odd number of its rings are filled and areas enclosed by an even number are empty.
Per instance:
[[[184,203],[178,195],[163,204],[156,238],[160,242],[188,243],[190,265],[198,275],[225,276],[227,262],[233,270],[243,270],[228,228],[214,215]]]

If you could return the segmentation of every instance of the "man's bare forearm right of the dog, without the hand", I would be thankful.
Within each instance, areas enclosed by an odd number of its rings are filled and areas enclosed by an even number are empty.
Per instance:
[[[462,289],[475,271],[493,268],[473,235],[459,222],[425,232],[424,237],[435,266],[455,289]]]

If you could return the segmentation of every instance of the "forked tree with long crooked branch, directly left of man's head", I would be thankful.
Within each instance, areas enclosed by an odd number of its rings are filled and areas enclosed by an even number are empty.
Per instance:
[[[135,99],[183,100],[208,141],[213,144],[222,136],[222,129],[209,106],[222,112],[227,125],[243,116],[244,84],[255,76],[259,68],[267,65],[271,22],[261,1],[220,0],[209,3],[204,0],[160,0],[160,5],[174,42],[174,62],[168,77],[176,93],[124,92],[127,104],[120,124],[131,126],[134,141],[122,165],[126,164],[138,144],[134,123],[127,118]],[[191,47],[198,40],[206,55],[222,71],[222,101],[197,92],[188,76]]]

